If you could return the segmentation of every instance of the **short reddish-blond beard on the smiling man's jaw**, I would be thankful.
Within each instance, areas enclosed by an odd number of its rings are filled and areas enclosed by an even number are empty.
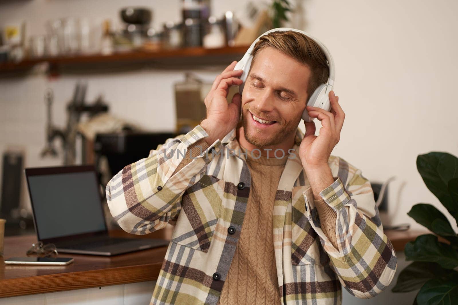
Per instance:
[[[283,126],[278,126],[277,131],[269,138],[269,139],[260,139],[259,137],[256,136],[256,133],[251,133],[248,134],[248,120],[250,118],[250,112],[246,110],[246,113],[248,113],[248,118],[247,116],[244,115],[244,112],[242,111],[242,120],[243,120],[243,133],[245,136],[245,139],[248,143],[262,148],[266,146],[273,146],[273,145],[278,145],[281,142],[283,142],[285,139],[289,138],[291,134],[295,134],[297,127],[299,126],[301,115],[298,116],[297,118],[292,119],[291,121],[287,122]],[[278,123],[276,123],[278,124]]]

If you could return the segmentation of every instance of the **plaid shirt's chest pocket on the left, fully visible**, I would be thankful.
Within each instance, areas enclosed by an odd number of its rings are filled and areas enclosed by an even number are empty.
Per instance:
[[[220,216],[223,193],[224,181],[207,175],[188,188],[171,241],[207,252]]]

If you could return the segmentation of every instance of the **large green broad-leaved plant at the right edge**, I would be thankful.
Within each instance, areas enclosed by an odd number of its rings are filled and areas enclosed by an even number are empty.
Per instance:
[[[430,152],[417,157],[417,169],[426,187],[458,222],[458,158]],[[458,304],[458,235],[431,204],[415,204],[407,214],[434,234],[407,243],[406,260],[414,262],[401,271],[392,291],[420,289],[414,304]]]

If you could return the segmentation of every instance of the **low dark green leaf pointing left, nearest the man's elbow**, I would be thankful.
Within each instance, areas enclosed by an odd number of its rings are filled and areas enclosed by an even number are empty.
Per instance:
[[[438,276],[446,276],[452,270],[444,269],[435,262],[413,262],[399,273],[393,292],[409,292],[420,289],[426,281]]]

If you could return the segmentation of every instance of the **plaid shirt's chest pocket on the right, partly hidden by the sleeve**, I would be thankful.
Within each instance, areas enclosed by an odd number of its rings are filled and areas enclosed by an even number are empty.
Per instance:
[[[291,263],[326,265],[329,257],[305,215],[304,192],[313,198],[310,186],[293,187],[291,193]]]

